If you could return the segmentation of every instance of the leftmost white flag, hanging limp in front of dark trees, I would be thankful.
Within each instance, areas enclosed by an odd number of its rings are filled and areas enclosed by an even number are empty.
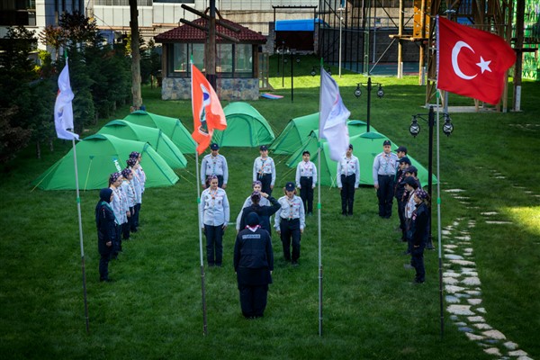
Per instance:
[[[67,131],[73,130],[73,92],[69,84],[69,68],[66,66],[58,76],[58,95],[54,104],[54,126],[57,130],[58,139],[77,139],[78,135]]]

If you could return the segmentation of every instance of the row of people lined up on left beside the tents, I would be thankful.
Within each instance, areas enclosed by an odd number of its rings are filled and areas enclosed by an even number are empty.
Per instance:
[[[109,176],[109,187],[103,188],[95,206],[100,281],[111,282],[109,261],[122,251],[122,240],[139,228],[139,211],[145,190],[146,174],[140,166],[141,155],[130,153],[127,166]]]

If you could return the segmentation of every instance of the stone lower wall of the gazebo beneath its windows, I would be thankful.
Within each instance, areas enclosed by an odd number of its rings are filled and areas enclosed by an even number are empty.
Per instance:
[[[218,78],[216,87],[220,100],[258,100],[259,98],[257,78]],[[165,77],[161,85],[161,99],[191,99],[191,78]]]

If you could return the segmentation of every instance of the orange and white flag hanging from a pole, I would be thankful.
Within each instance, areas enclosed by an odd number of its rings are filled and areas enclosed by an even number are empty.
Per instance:
[[[210,146],[213,130],[227,129],[225,113],[220,99],[210,83],[192,64],[193,133],[199,155]]]

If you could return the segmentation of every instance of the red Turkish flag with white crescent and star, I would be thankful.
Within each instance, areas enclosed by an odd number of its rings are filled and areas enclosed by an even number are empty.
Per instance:
[[[500,36],[437,16],[437,89],[497,104],[516,53]]]

